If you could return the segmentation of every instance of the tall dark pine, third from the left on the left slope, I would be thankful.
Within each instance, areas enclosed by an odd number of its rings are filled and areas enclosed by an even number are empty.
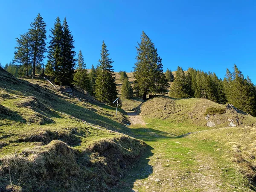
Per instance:
[[[61,20],[56,18],[53,29],[50,30],[50,42],[48,47],[46,73],[50,76],[58,76],[59,70],[63,64],[62,57],[62,41],[63,29]]]

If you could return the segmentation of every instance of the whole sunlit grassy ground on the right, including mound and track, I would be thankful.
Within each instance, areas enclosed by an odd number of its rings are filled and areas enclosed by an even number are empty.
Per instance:
[[[144,102],[140,116],[146,125],[130,128],[152,149],[151,157],[138,169],[144,174],[152,169],[152,173],[137,179],[134,190],[256,190],[256,118],[207,99],[166,96]],[[208,127],[209,121],[215,126]],[[229,126],[230,122],[236,126]],[[124,178],[124,182],[128,179]]]

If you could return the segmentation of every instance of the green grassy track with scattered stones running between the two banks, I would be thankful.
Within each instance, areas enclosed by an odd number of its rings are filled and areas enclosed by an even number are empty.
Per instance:
[[[147,155],[129,172],[134,177],[124,178],[112,191],[137,189],[146,191],[250,191],[248,179],[236,165],[227,160],[227,151],[217,140],[199,139],[189,132],[205,130],[204,127],[167,120],[144,118],[148,123],[130,128],[149,148]],[[214,131],[214,130],[212,130]],[[199,132],[204,135],[207,131]],[[221,150],[217,150],[221,148]],[[155,179],[160,182],[155,182]],[[148,187],[146,189],[146,187]],[[234,188],[236,187],[236,188]]]

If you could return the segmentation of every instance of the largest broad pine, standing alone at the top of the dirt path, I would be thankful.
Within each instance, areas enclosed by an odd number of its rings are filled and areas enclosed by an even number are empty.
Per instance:
[[[145,100],[148,93],[165,93],[169,84],[163,73],[162,58],[158,56],[157,49],[144,31],[136,49],[137,63],[134,67],[136,95],[142,96]]]

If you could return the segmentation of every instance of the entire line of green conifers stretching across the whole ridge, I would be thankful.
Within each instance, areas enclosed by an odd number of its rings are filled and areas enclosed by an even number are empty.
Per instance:
[[[137,43],[137,55],[134,66],[133,87],[127,73],[120,71],[123,98],[131,99],[134,95],[144,100],[148,94],[166,93],[173,98],[206,98],[220,104],[231,103],[235,107],[256,116],[256,87],[249,77],[244,78],[234,65],[234,70],[227,70],[225,78],[218,79],[215,73],[189,68],[186,73],[177,67],[175,76],[171,70],[163,72],[162,58],[157,53],[154,43],[143,31],[141,41]],[[50,29],[49,46],[46,47],[46,23],[40,14],[30,24],[28,31],[16,38],[16,47],[12,63],[4,69],[14,76],[48,75],[55,84],[76,85],[105,104],[111,105],[117,97],[113,60],[107,45],[102,42],[100,59],[96,68],[92,65],[87,70],[81,50],[77,58],[74,51],[74,39],[67,19],[63,22],[56,18]],[[44,67],[44,53],[47,52],[47,64]],[[43,67],[42,67],[43,66]],[[169,82],[171,83],[171,87]],[[169,88],[170,87],[170,88]]]

